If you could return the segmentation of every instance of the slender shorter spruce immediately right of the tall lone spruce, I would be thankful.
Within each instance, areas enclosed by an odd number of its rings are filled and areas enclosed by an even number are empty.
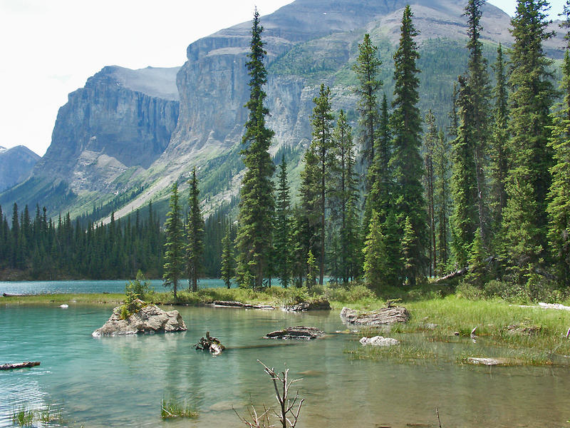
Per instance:
[[[281,159],[277,174],[277,197],[275,209],[275,270],[286,288],[291,280],[291,198],[287,183],[287,163]]]

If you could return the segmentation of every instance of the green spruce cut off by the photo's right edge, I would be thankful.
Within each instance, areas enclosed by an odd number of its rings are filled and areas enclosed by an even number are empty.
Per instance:
[[[556,263],[561,285],[570,285],[570,0],[564,6],[566,28],[566,51],[562,64],[560,92],[563,101],[552,113],[552,136],[549,146],[554,152],[554,165],[551,167],[550,185],[549,245]]]

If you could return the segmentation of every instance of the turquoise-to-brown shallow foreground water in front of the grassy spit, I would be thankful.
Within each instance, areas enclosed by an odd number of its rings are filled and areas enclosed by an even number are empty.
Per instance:
[[[564,427],[570,419],[570,370],[470,367],[451,360],[398,364],[351,360],[361,346],[338,312],[179,307],[187,332],[91,337],[111,307],[1,305],[0,364],[41,361],[0,372],[0,427],[21,404],[62,409],[70,427],[239,427],[232,406],[274,404],[257,360],[289,367],[306,399],[298,427]],[[273,330],[311,325],[333,333],[311,342],[261,339]],[[209,330],[227,350],[218,357],[193,345]],[[419,336],[400,337],[421,340]],[[270,345],[270,346],[267,346]],[[435,344],[460,355],[484,345]],[[162,398],[187,399],[196,419],[163,422]],[[410,425],[415,424],[415,425]],[[418,425],[420,424],[420,425]]]

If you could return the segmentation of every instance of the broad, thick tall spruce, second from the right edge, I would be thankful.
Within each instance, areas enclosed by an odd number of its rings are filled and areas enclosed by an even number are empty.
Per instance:
[[[549,108],[553,86],[542,43],[546,32],[546,0],[519,0],[511,21],[514,44],[510,51],[509,172],[507,206],[503,210],[502,255],[512,279],[532,277],[548,255],[546,194],[552,163]]]

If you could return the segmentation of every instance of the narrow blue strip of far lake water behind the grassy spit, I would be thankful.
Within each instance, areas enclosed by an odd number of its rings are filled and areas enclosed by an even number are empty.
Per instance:
[[[126,280],[76,280],[76,281],[0,281],[0,297],[3,292],[8,294],[52,294],[52,293],[95,293],[95,292],[125,292]],[[162,280],[149,280],[150,287],[155,291],[165,291]],[[223,280],[199,280],[199,288],[225,287]],[[188,288],[188,280],[182,280],[179,290]]]

